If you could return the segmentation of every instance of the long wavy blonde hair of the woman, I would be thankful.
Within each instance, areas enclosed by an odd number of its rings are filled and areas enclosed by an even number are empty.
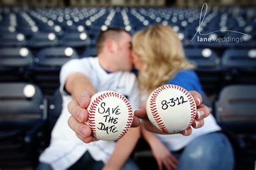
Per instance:
[[[170,81],[179,70],[194,68],[185,57],[178,34],[170,26],[154,25],[137,32],[132,47],[143,62],[138,82],[140,90],[147,94]]]

